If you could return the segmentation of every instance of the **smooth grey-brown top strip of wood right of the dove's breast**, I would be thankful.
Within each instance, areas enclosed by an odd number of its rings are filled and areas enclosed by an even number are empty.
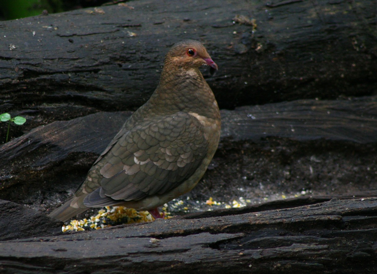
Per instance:
[[[297,100],[221,112],[222,137],[258,142],[267,136],[371,143],[376,139],[377,97]]]

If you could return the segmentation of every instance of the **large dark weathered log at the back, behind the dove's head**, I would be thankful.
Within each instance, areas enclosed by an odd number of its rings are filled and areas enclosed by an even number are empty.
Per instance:
[[[139,0],[3,21],[0,112],[33,117],[25,125],[31,129],[135,109],[155,89],[168,47],[184,38],[203,41],[218,63],[208,82],[222,108],[371,95],[375,5]],[[11,44],[16,48],[9,50]]]

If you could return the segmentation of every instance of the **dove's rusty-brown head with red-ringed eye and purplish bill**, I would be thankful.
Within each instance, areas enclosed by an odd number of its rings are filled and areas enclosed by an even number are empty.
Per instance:
[[[188,70],[198,68],[201,65],[210,66],[211,72],[218,69],[204,45],[199,41],[191,39],[174,44],[166,54],[165,64],[167,63],[172,63],[175,66],[184,67]]]

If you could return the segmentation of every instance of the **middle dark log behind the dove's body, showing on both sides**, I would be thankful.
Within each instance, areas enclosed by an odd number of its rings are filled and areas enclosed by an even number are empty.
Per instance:
[[[203,199],[213,196],[224,200],[224,195],[229,195],[227,200],[245,195],[250,198],[255,187],[266,181],[276,182],[270,185],[282,192],[320,191],[316,195],[332,188],[333,194],[376,189],[376,106],[375,100],[359,98],[336,104],[299,100],[222,111],[222,137],[215,165],[207,172],[206,183],[193,193]],[[39,210],[56,207],[77,188],[129,115],[100,112],[56,121],[3,144],[0,198]],[[267,141],[271,136],[282,141]],[[288,140],[307,147],[297,147]],[[328,140],[328,148],[321,140]],[[257,185],[251,183],[250,188],[244,177],[254,177]],[[281,182],[289,188],[278,186]],[[238,191],[240,187],[246,192]]]

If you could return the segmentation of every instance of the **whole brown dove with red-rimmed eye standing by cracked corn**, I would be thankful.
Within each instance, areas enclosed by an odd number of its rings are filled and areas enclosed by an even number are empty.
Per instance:
[[[199,67],[217,70],[196,40],[176,43],[150,99],[124,123],[74,196],[49,216],[69,220],[89,207],[149,210],[190,191],[220,138],[220,112]]]

